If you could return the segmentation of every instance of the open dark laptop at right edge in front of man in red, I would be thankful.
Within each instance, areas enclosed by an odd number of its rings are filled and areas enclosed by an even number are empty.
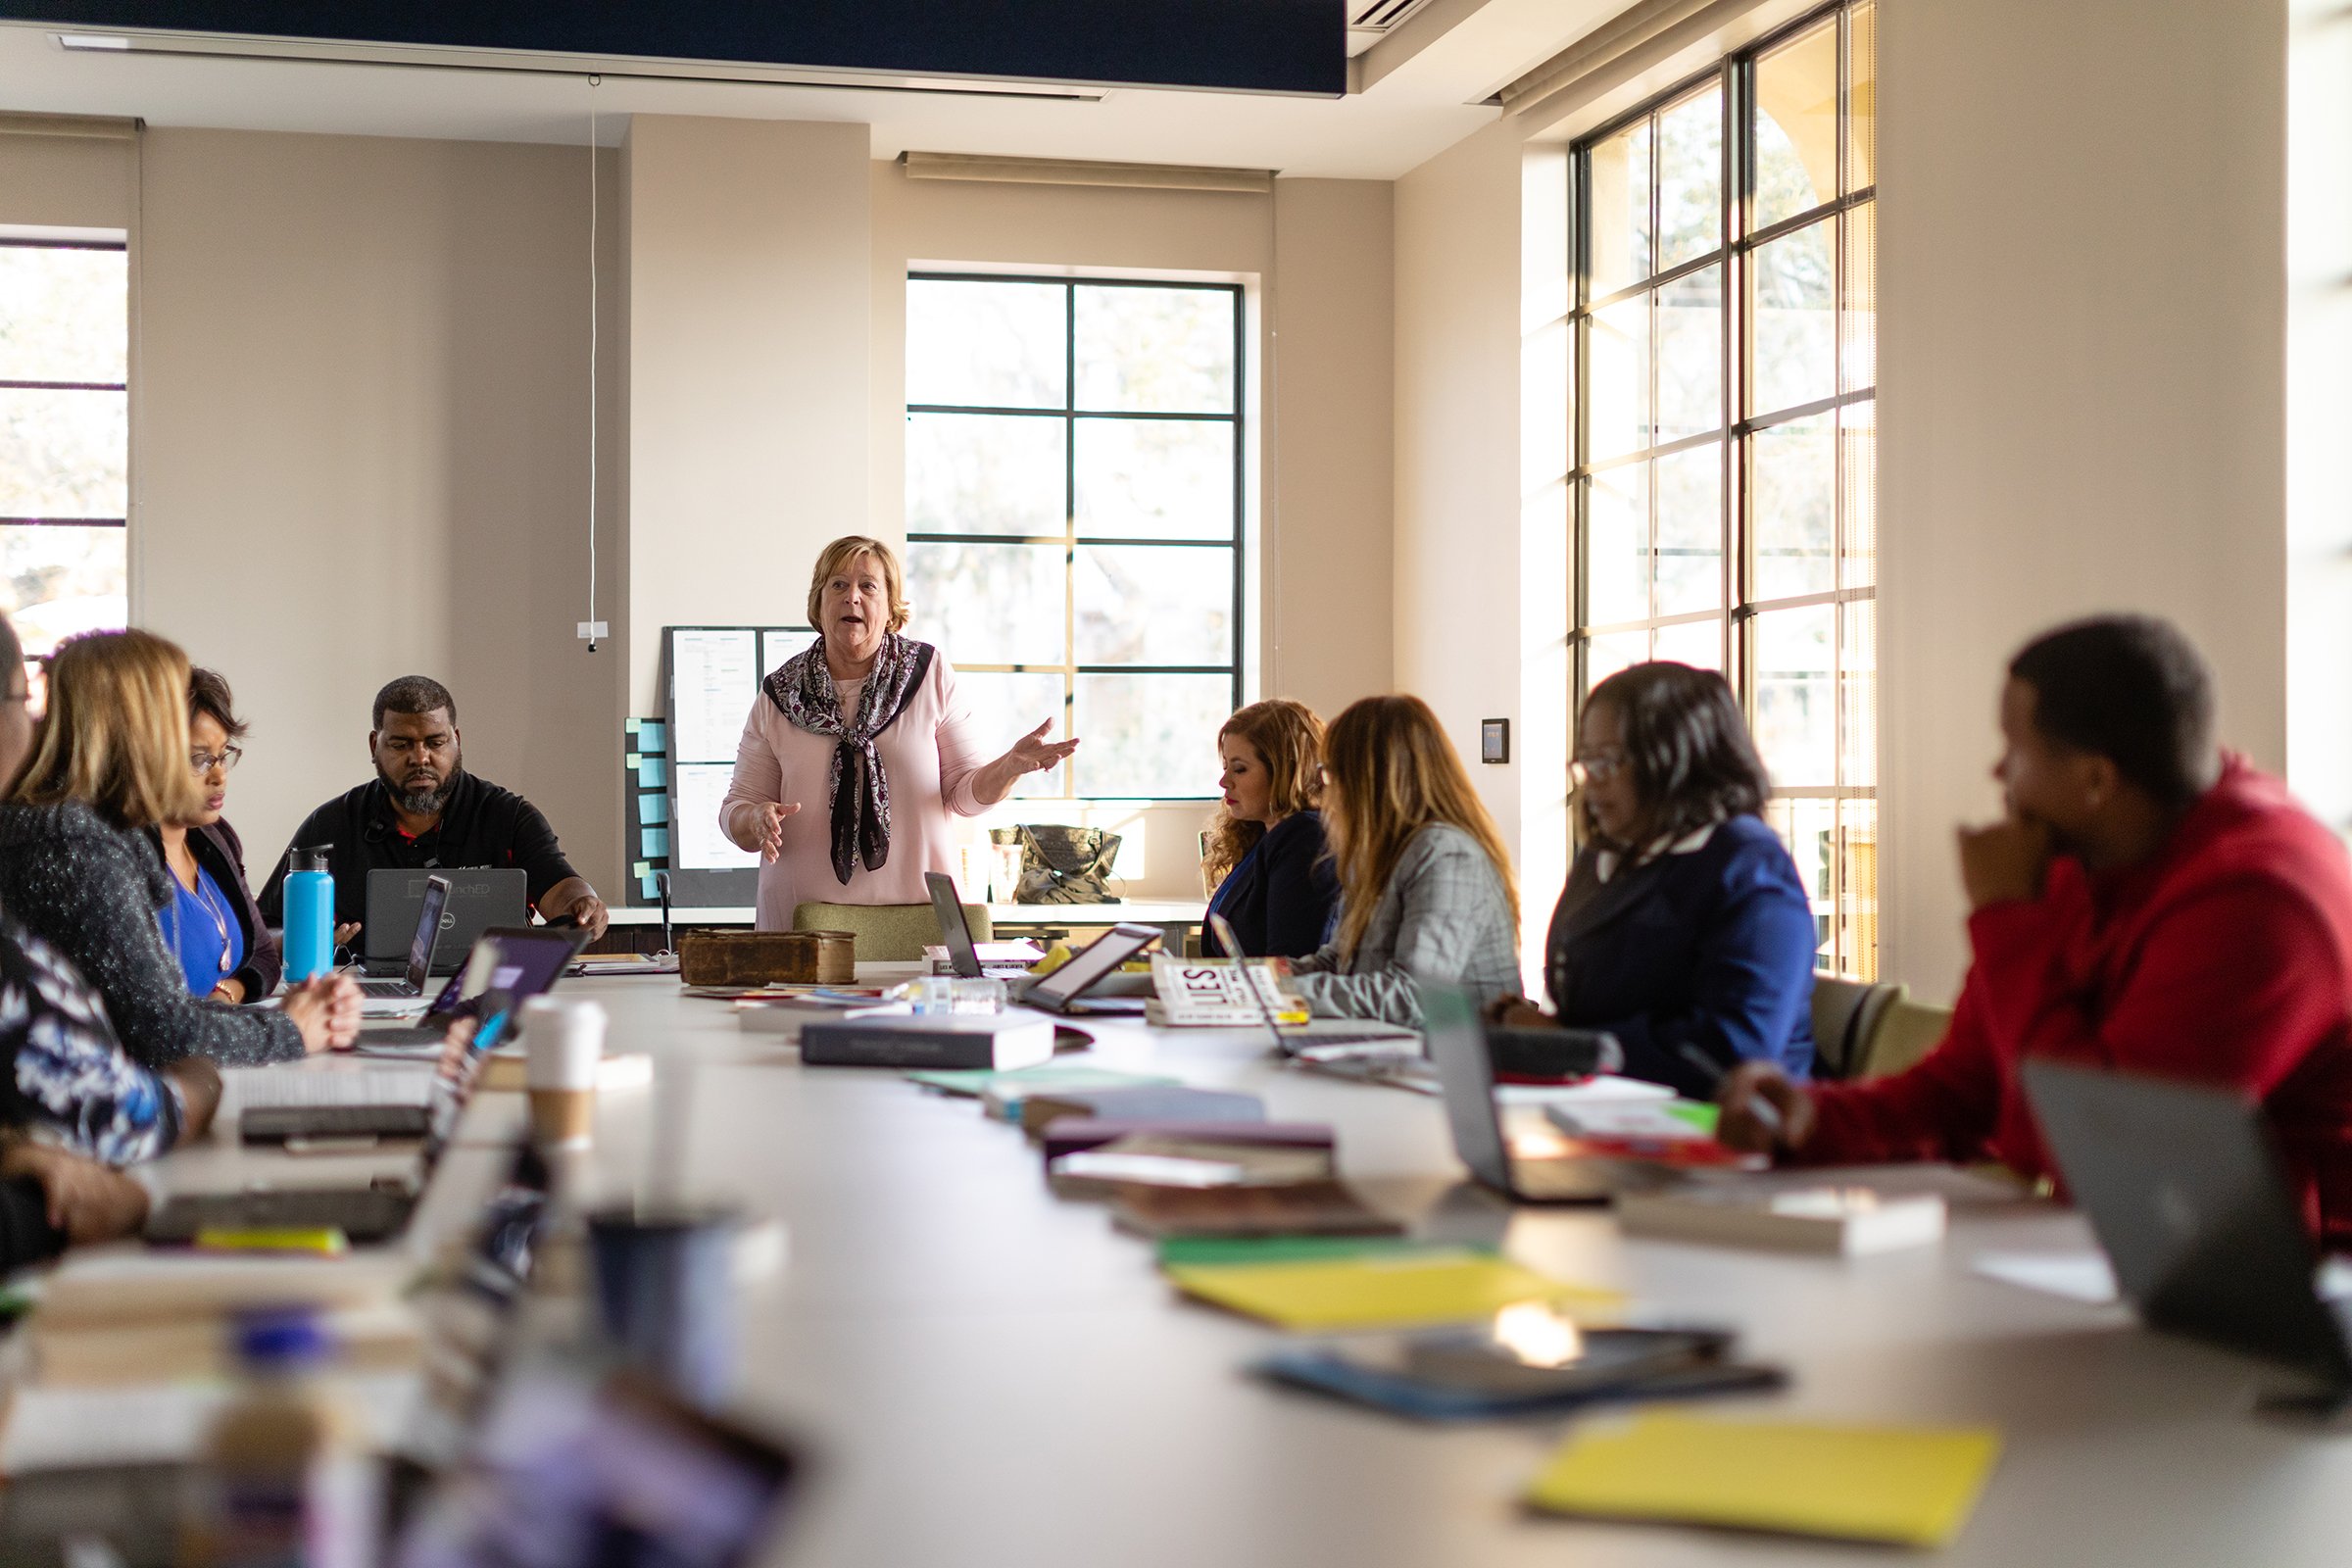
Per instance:
[[[2260,1107],[2204,1084],[2025,1063],[2025,1095],[2117,1291],[2150,1328],[2279,1361],[2352,1399],[2347,1305]]]

